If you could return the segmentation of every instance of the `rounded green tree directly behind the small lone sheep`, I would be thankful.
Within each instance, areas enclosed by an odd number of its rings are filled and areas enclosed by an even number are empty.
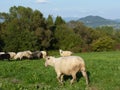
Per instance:
[[[79,38],[72,29],[66,25],[61,25],[55,30],[55,47],[57,49],[80,51],[81,38]]]

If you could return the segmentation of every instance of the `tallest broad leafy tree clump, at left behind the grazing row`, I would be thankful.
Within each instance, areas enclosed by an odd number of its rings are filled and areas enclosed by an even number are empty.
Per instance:
[[[5,19],[2,26],[5,51],[39,50],[49,46],[47,41],[43,44],[44,39],[49,35],[45,35],[48,30],[40,11],[33,11],[29,7],[13,6],[9,12],[9,14],[0,14],[0,17]],[[43,35],[35,33],[38,28],[42,28],[40,32],[44,33]],[[42,39],[39,42],[40,38]]]

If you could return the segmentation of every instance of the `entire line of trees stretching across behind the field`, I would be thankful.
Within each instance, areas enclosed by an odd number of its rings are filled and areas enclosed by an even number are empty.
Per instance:
[[[0,12],[0,51],[71,50],[74,52],[120,49],[120,30],[90,28],[61,16],[47,18],[38,10],[13,6]]]

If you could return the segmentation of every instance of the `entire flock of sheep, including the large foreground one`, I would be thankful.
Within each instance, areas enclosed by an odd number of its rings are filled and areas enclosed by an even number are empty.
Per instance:
[[[17,54],[14,52],[0,52],[0,60],[1,59],[34,59],[34,58],[44,58],[45,59],[45,66],[52,66],[55,69],[57,74],[58,81],[63,84],[63,76],[64,75],[71,75],[72,80],[70,81],[71,84],[76,80],[77,72],[81,71],[83,77],[86,80],[86,84],[88,85],[88,76],[86,73],[85,62],[79,56],[73,56],[71,51],[63,51],[59,50],[60,57],[56,58],[53,56],[48,56],[46,51],[23,51],[18,52]]]

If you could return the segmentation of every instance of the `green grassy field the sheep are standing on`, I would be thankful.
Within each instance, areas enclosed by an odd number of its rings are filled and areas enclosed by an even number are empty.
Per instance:
[[[53,67],[44,60],[0,61],[0,90],[120,90],[120,51],[77,53],[86,62],[90,84],[79,73],[60,85]]]

